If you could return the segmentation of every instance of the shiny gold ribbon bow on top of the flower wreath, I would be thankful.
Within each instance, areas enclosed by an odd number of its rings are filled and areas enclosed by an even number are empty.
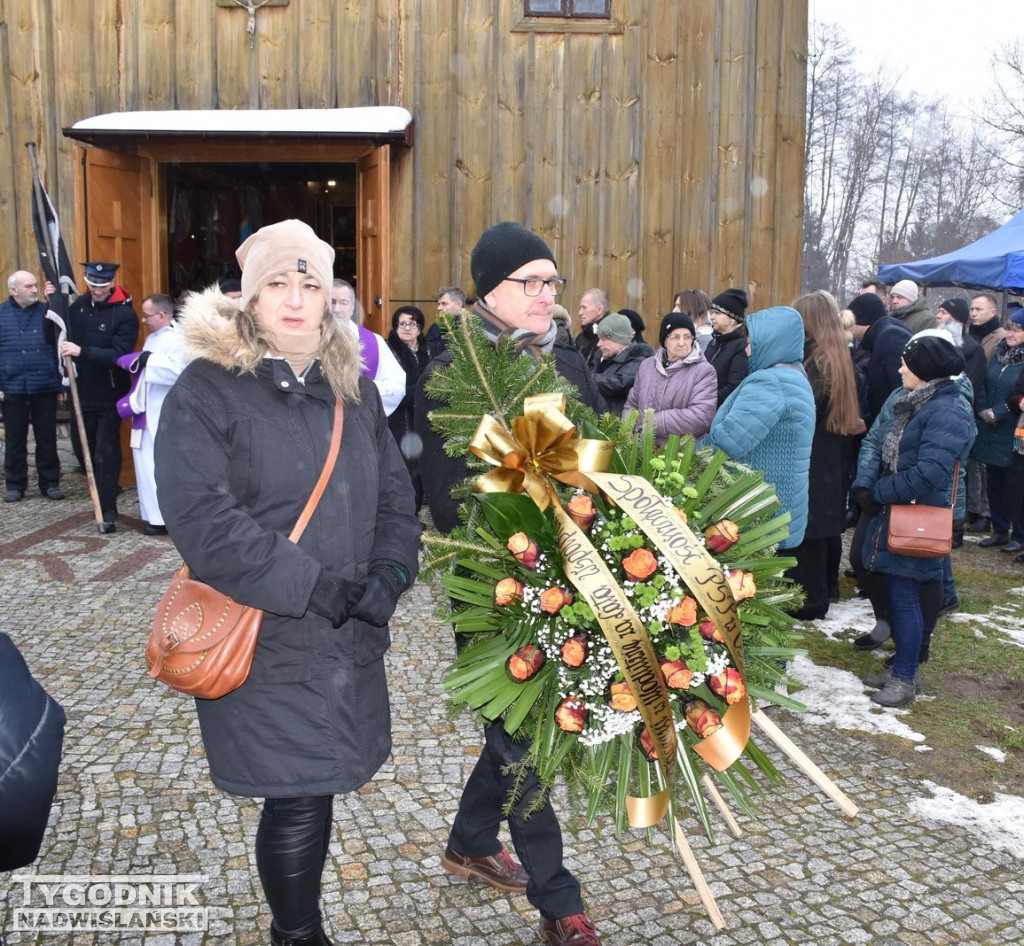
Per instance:
[[[512,433],[489,414],[481,418],[469,449],[497,469],[477,477],[474,490],[526,492],[542,510],[556,501],[549,477],[596,492],[587,473],[608,469],[614,444],[577,437],[564,411],[564,394],[531,394]]]

